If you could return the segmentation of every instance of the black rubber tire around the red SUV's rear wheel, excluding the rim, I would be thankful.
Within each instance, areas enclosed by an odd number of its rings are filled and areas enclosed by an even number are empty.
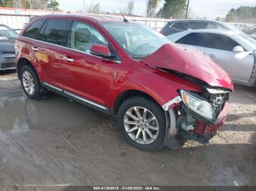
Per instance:
[[[31,76],[33,77],[34,79],[34,93],[33,94],[29,94],[26,92],[25,90],[25,87],[23,86],[23,73],[25,71],[29,71],[29,73],[31,74]],[[34,71],[34,69],[31,69],[30,66],[23,66],[21,69],[20,69],[20,82],[21,82],[21,86],[23,88],[23,91],[24,93],[29,97],[29,98],[32,98],[32,99],[38,99],[39,98],[39,94],[40,94],[40,83],[39,83],[39,80],[37,78],[37,74],[36,72]]]

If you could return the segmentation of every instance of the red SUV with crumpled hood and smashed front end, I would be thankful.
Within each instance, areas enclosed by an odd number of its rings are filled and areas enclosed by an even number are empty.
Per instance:
[[[163,147],[178,130],[211,137],[227,116],[233,82],[208,56],[138,23],[45,15],[15,43],[24,92],[54,91],[117,117],[132,146]]]

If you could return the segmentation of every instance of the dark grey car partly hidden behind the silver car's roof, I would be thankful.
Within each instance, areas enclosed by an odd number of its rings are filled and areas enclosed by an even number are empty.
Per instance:
[[[160,31],[161,34],[168,36],[182,31],[197,29],[220,29],[227,31],[239,31],[236,27],[227,23],[211,20],[172,20],[169,21]]]

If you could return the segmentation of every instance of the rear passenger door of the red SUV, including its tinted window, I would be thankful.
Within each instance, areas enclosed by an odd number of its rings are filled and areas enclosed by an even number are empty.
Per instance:
[[[63,63],[66,63],[65,46],[71,23],[71,20],[64,19],[47,20],[37,35],[40,43],[35,58],[42,70],[41,80],[57,87],[64,87],[64,78],[69,77]]]

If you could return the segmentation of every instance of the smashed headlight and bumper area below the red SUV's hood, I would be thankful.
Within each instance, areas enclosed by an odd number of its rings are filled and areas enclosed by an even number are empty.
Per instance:
[[[223,125],[227,116],[229,90],[206,88],[205,93],[179,90],[179,95],[163,105],[165,111],[176,111],[176,128],[200,135],[207,141]],[[171,131],[172,130],[172,131]],[[173,128],[168,136],[173,136]]]

